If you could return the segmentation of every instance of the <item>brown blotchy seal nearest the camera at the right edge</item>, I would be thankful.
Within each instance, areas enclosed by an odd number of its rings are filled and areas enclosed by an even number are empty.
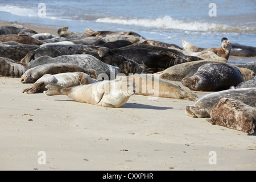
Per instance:
[[[253,134],[256,125],[256,109],[232,98],[221,98],[210,112],[208,122],[230,129]]]

